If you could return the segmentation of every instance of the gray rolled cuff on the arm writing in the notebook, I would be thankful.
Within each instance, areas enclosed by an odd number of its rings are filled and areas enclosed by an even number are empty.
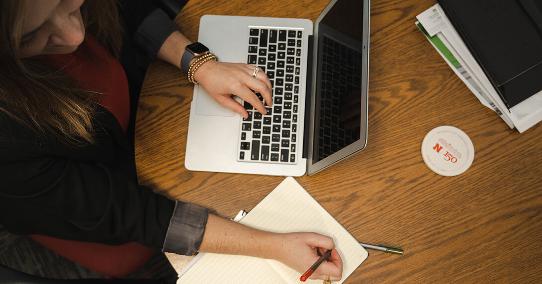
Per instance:
[[[162,251],[183,255],[197,253],[202,243],[207,217],[207,208],[177,201]]]

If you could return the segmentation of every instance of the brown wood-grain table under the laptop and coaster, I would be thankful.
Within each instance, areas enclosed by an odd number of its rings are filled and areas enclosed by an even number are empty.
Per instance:
[[[195,41],[204,14],[314,21],[326,4],[190,0],[177,22]],[[405,250],[370,251],[346,283],[539,282],[542,126],[520,134],[480,104],[414,25],[432,4],[371,3],[367,147],[296,180],[359,241]],[[151,64],[136,129],[140,183],[234,217],[283,177],[186,170],[192,90],[178,69]],[[436,175],[422,160],[423,137],[442,125],[462,129],[474,143],[474,162],[459,176]]]

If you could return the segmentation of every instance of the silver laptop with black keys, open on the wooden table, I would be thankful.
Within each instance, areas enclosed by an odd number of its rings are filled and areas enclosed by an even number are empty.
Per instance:
[[[185,167],[311,175],[367,143],[369,0],[332,0],[316,19],[205,15],[198,41],[266,72],[272,107],[245,119],[195,85]],[[259,94],[257,94],[259,95]],[[260,96],[261,97],[261,96]]]

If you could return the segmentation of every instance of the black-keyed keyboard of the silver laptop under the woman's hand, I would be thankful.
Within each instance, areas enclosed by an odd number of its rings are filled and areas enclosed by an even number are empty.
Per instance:
[[[273,107],[262,115],[245,102],[237,161],[296,164],[301,77],[301,30],[249,28],[247,63],[266,72],[273,86]],[[256,95],[264,102],[259,93]],[[265,103],[265,102],[264,102]]]

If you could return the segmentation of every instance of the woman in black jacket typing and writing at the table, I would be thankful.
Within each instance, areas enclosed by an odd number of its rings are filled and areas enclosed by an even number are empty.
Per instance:
[[[137,241],[186,255],[251,255],[300,273],[334,247],[330,237],[256,230],[137,183],[128,138],[141,82],[134,47],[179,67],[180,51],[191,43],[164,12],[142,15],[146,8],[127,1],[119,8],[126,21],[121,33],[113,1],[0,3],[0,221],[11,232],[110,245]],[[253,71],[211,60],[193,78],[246,116],[231,94],[261,112],[250,89],[271,101],[268,78]],[[336,281],[341,274],[333,250],[312,278]]]

